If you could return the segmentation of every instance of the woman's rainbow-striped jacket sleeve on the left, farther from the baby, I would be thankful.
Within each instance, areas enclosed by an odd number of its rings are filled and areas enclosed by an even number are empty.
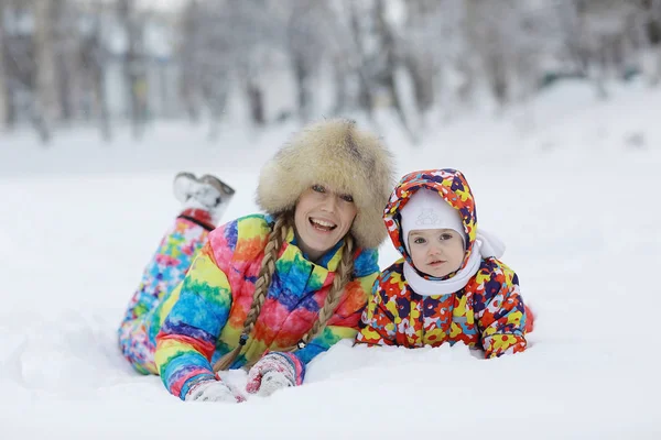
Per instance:
[[[214,231],[223,233],[218,229]],[[223,250],[231,255],[232,249]],[[170,393],[184,399],[201,381],[215,380],[210,359],[231,308],[231,287],[210,242],[193,261],[156,336],[155,363]],[[178,292],[177,292],[178,290]]]

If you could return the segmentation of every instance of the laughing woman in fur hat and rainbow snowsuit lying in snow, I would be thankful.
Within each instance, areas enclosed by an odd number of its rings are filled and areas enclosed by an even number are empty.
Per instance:
[[[346,120],[302,130],[267,163],[267,215],[213,229],[234,191],[178,175],[184,210],[119,329],[124,356],[184,400],[241,402],[215,374],[226,369],[250,369],[249,393],[302,384],[314,356],[357,333],[392,178],[379,139]]]

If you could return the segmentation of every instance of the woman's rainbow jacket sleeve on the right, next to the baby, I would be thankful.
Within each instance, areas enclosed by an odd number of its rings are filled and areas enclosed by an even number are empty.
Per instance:
[[[354,339],[358,332],[360,316],[367,305],[369,292],[379,275],[378,252],[362,251],[354,263],[354,280],[347,284],[346,299],[337,308],[324,331],[302,350],[294,353],[303,365],[317,354],[327,351],[343,339]],[[303,372],[304,374],[304,372]]]

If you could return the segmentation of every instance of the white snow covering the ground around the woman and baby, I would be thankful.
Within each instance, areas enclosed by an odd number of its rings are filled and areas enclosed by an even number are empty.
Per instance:
[[[128,130],[111,144],[73,130],[47,147],[29,131],[3,135],[0,438],[660,438],[661,90],[610,91],[598,101],[565,84],[498,118],[430,127],[420,145],[380,125],[399,175],[465,172],[537,311],[527,352],[340,343],[304,386],[241,405],[172,397],[131,370],[115,331],[176,213],[173,174],[215,173],[239,190],[226,219],[254,212],[259,167],[294,127],[228,123],[214,143],[183,122],[143,142]],[[384,267],[397,253],[381,251]]]

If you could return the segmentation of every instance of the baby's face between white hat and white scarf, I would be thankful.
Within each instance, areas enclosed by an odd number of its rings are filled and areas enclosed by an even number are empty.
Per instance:
[[[464,240],[452,229],[414,229],[409,232],[409,254],[416,270],[441,278],[462,265]]]

